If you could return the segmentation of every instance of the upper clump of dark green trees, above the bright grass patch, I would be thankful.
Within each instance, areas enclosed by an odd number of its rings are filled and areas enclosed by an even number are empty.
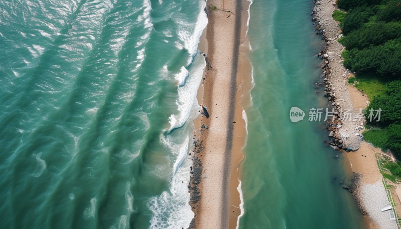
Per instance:
[[[377,5],[381,4],[381,5]],[[349,10],[341,28],[348,53],[344,66],[356,73],[401,78],[401,0],[338,1]]]

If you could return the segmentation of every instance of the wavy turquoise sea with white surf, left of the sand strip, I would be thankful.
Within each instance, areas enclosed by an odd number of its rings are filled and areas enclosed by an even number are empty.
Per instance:
[[[0,1],[0,227],[181,228],[203,1]]]

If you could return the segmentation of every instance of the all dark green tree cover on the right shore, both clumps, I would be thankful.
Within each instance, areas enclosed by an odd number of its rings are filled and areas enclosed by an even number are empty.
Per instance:
[[[339,40],[346,48],[344,66],[357,73],[356,81],[358,75],[392,81],[370,98],[368,122],[371,108],[382,111],[379,122],[369,123],[374,130],[365,139],[401,157],[401,0],[338,0],[337,6],[347,11],[340,24],[345,36]],[[401,177],[401,170],[391,173]]]

